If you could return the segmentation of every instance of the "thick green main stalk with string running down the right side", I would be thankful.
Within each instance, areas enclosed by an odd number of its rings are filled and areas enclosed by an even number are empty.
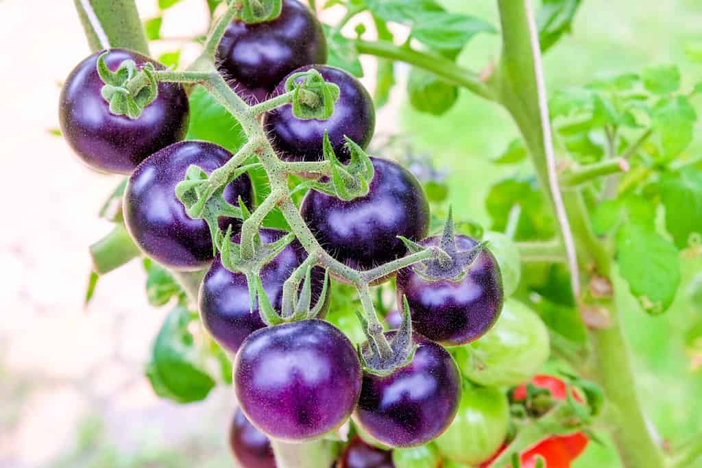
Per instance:
[[[498,0],[503,31],[503,57],[491,84],[524,135],[539,181],[549,187],[548,165],[540,121],[534,51],[530,45],[529,0]],[[564,204],[576,241],[581,265],[592,265],[597,274],[609,275],[611,261],[590,229],[588,213],[578,191],[564,194]],[[597,365],[595,377],[609,401],[609,429],[627,468],[663,468],[661,449],[649,434],[636,395],[628,347],[610,307],[611,326],[590,330]]]

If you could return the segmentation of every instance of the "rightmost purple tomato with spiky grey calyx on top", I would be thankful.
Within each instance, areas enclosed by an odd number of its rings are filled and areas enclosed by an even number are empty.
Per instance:
[[[420,242],[438,246],[441,236]],[[457,235],[458,250],[470,250],[477,241]],[[397,273],[398,304],[407,297],[412,326],[430,340],[445,346],[465,345],[484,335],[502,310],[504,300],[500,267],[485,249],[459,281],[429,281],[412,267]]]

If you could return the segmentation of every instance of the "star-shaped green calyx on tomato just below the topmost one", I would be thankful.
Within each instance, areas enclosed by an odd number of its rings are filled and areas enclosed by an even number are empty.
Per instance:
[[[285,91],[293,92],[293,115],[300,120],[329,119],[340,95],[338,85],[324,81],[314,68],[291,74]]]

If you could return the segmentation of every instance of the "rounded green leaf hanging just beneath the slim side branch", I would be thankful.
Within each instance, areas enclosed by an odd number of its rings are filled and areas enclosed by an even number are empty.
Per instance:
[[[442,115],[458,100],[458,88],[437,76],[412,68],[407,81],[409,102],[418,112]]]

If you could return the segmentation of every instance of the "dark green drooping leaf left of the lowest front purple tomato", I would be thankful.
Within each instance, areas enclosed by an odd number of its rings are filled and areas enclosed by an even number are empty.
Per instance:
[[[215,386],[202,368],[201,356],[187,330],[192,318],[193,314],[180,306],[166,316],[146,368],[154,392],[178,403],[203,400]]]

